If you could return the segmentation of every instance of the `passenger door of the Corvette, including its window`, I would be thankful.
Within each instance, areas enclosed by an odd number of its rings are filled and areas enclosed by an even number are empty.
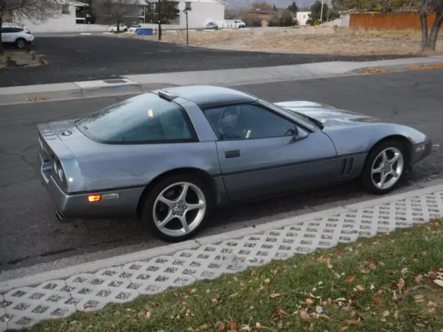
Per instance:
[[[257,104],[206,109],[205,115],[219,137],[217,154],[231,201],[305,190],[338,175],[335,147],[321,131],[309,132]]]

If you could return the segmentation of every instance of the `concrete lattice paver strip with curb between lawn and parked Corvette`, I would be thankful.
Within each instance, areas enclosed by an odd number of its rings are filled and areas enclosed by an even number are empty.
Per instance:
[[[95,311],[443,216],[443,185],[0,283],[0,331]]]

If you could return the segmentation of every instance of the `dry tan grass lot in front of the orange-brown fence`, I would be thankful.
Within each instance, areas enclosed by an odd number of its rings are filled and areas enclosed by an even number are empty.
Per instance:
[[[156,40],[157,36],[138,37]],[[163,42],[186,44],[186,31],[165,31]],[[363,31],[348,28],[307,27],[266,30],[190,31],[189,44],[229,50],[257,50],[336,55],[417,55],[418,31]],[[443,41],[437,42],[443,53]]]

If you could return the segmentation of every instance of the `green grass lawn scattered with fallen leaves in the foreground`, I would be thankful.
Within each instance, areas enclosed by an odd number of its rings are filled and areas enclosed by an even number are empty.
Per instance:
[[[442,234],[435,220],[30,331],[443,331]]]

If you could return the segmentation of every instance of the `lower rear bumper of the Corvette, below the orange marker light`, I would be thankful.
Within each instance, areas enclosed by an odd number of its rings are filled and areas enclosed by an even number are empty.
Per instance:
[[[143,187],[100,192],[98,202],[89,203],[91,193],[67,194],[50,176],[41,177],[42,184],[55,203],[55,210],[68,219],[116,219],[136,216]]]

